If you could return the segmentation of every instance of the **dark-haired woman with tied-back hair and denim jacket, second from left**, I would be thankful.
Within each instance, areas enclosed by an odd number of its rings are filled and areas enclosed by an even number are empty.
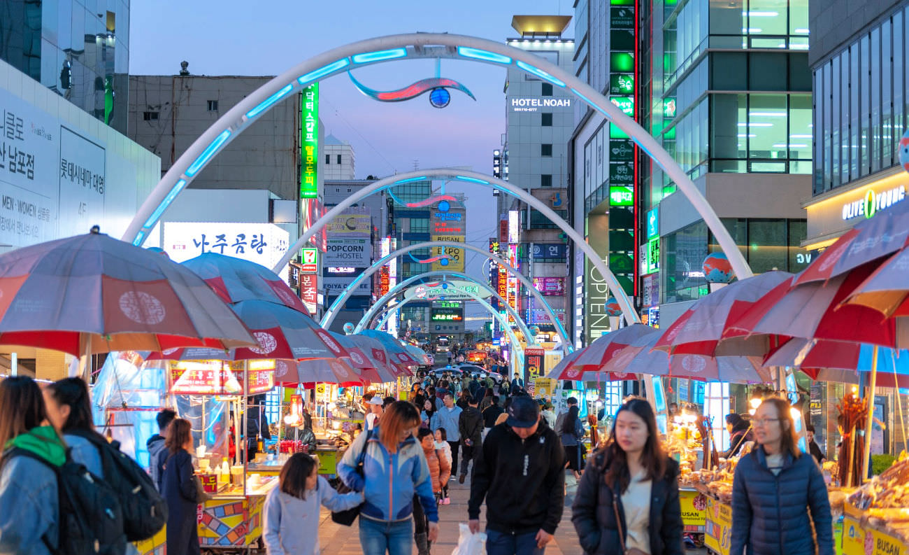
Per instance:
[[[70,456],[85,465],[89,472],[104,478],[101,453],[86,435],[106,439],[95,431],[92,420],[92,402],[88,386],[80,378],[64,378],[47,386],[44,390],[47,419],[57,431],[63,434]]]

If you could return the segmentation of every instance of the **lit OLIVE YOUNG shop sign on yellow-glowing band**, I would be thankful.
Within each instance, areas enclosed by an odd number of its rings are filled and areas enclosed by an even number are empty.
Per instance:
[[[902,166],[887,173],[889,175],[873,181],[842,191],[834,189],[805,202],[802,206],[808,212],[808,233],[803,246],[809,249],[827,247],[855,224],[904,202],[909,174]]]

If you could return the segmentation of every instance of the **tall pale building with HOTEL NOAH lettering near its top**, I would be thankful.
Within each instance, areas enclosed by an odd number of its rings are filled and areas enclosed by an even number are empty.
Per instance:
[[[573,71],[574,40],[565,37],[571,15],[514,15],[518,36],[506,43],[526,50],[565,71]],[[505,134],[501,150],[494,151],[493,168],[514,187],[528,190],[568,219],[568,139],[574,129],[574,96],[564,88],[509,67],[505,81]],[[499,153],[499,154],[495,154]],[[496,164],[496,162],[498,162]],[[499,238],[500,254],[514,258],[522,273],[546,295],[562,326],[567,325],[568,302],[566,239],[540,211],[514,197],[498,196],[499,215],[512,233]],[[504,276],[503,276],[504,278]],[[555,323],[530,293],[508,280],[506,297],[528,325],[546,334]],[[502,309],[504,312],[504,309]]]

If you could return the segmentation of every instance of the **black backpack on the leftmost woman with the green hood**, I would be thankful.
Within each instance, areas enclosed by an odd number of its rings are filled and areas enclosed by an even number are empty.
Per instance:
[[[60,467],[32,451],[19,448],[7,449],[3,463],[14,457],[41,461],[56,474],[59,547],[54,549],[52,542],[42,536],[47,550],[55,555],[119,555],[124,552],[123,511],[119,496],[109,484],[71,459],[68,449],[66,462]]]

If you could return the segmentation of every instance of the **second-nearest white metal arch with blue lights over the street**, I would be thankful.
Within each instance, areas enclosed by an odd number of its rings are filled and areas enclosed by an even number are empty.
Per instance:
[[[568,225],[567,222],[559,217],[552,208],[547,207],[546,204],[539,198],[534,197],[530,193],[524,191],[520,187],[515,187],[514,183],[509,181],[504,181],[492,176],[486,176],[474,171],[460,171],[453,173],[451,168],[438,168],[438,169],[424,169],[420,171],[407,172],[405,174],[398,174],[392,177],[385,177],[375,181],[366,187],[356,191],[350,197],[346,197],[340,203],[332,207],[328,212],[325,213],[325,216],[320,217],[315,221],[312,227],[307,229],[296,242],[287,249],[285,256],[278,261],[275,265],[275,272],[281,271],[282,267],[285,267],[290,261],[290,258],[293,257],[294,253],[299,251],[310,238],[314,237],[322,227],[328,225],[336,216],[341,214],[345,208],[354,205],[365,197],[369,197],[373,193],[395,187],[396,185],[403,185],[405,183],[412,183],[414,181],[426,181],[432,179],[447,179],[451,181],[463,181],[465,183],[474,183],[477,185],[482,185],[484,187],[490,187],[494,189],[499,189],[507,192],[512,197],[516,197],[520,200],[523,200],[531,207],[536,208],[545,217],[549,218],[557,227],[564,231],[565,235],[570,237],[578,248],[584,252],[584,256],[590,261],[590,263],[601,273],[603,278],[606,280],[606,284],[609,286],[609,289],[613,292],[616,300],[619,303],[619,306],[622,308],[622,314],[624,315],[625,321],[630,325],[635,322],[640,322],[641,318],[638,317],[637,312],[634,310],[634,305],[631,302],[631,298],[628,298],[625,295],[624,289],[619,285],[618,280],[615,278],[614,274],[609,270],[609,267],[603,261],[603,258],[596,254],[596,251],[584,240],[584,237],[578,233],[574,227]],[[464,247],[465,243],[457,243],[459,247]]]

